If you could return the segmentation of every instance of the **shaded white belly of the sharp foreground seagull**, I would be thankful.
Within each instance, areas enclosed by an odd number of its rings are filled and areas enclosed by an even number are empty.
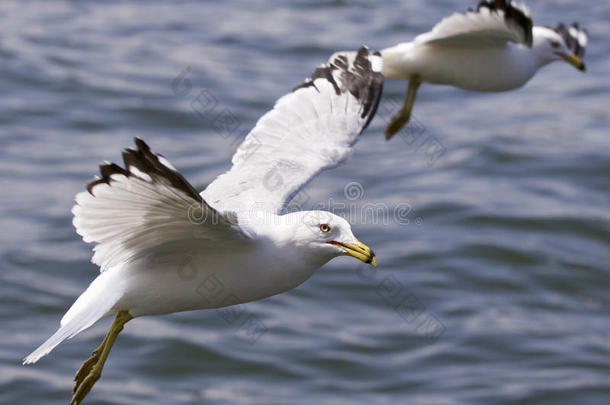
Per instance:
[[[290,290],[324,264],[263,251],[268,252],[253,247],[153,255],[110,269],[125,291],[113,309],[142,316],[240,304]]]

